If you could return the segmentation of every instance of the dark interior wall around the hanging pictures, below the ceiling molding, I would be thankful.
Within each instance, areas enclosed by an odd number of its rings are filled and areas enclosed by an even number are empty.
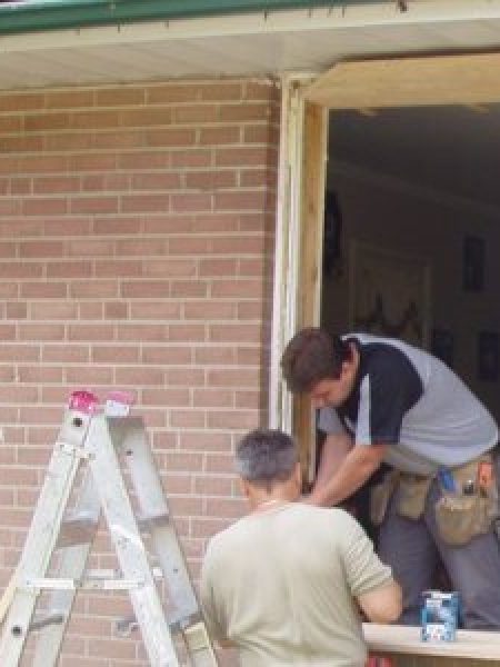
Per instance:
[[[338,196],[342,213],[340,275],[324,276],[322,325],[343,332],[352,298],[350,275],[352,240],[387,250],[418,256],[431,269],[430,323],[453,336],[453,368],[492,414],[500,417],[498,380],[478,377],[480,331],[499,331],[500,271],[494,249],[500,245],[500,225],[478,207],[460,206],[459,200],[430,197],[396,179],[360,173],[334,166],[330,160],[328,189]],[[486,241],[484,287],[466,291],[462,287],[462,249],[466,236]]]

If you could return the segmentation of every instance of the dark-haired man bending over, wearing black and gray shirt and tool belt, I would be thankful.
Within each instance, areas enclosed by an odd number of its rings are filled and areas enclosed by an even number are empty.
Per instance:
[[[464,626],[500,628],[498,428],[484,406],[439,359],[389,338],[304,329],[281,366],[289,389],[310,396],[327,434],[311,504],[343,501],[382,464],[397,471],[386,480],[379,552],[402,584],[401,621],[419,623],[421,591],[441,559],[461,594]],[[459,510],[452,521],[450,507]]]

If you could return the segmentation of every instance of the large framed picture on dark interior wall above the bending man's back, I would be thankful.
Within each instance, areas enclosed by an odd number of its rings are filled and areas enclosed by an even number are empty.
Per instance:
[[[430,347],[430,263],[352,241],[350,325],[418,347]]]

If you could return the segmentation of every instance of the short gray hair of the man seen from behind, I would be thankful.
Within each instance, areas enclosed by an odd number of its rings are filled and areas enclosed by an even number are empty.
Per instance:
[[[257,484],[289,479],[297,461],[294,440],[280,430],[252,430],[241,439],[236,451],[238,474]]]

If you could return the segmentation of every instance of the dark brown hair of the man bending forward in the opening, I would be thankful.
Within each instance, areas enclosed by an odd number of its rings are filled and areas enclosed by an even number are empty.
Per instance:
[[[326,378],[338,379],[342,361],[350,359],[349,344],[316,327],[302,329],[284,348],[281,369],[293,394],[303,394]]]

